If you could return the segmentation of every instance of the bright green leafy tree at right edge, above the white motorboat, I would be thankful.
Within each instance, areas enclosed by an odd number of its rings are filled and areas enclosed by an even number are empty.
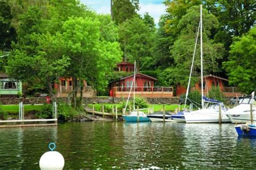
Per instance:
[[[237,85],[242,92],[250,94],[256,89],[256,28],[247,34],[235,37],[230,46],[230,57],[224,62],[229,83]]]

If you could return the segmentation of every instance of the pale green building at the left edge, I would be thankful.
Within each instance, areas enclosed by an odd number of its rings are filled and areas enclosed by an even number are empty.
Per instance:
[[[18,97],[22,94],[22,82],[0,72],[0,97]]]

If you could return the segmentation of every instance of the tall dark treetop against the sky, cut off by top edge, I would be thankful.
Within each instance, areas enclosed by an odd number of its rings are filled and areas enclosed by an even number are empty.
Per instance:
[[[138,16],[138,10],[138,0],[111,0],[111,16],[116,24],[121,24],[126,19]]]

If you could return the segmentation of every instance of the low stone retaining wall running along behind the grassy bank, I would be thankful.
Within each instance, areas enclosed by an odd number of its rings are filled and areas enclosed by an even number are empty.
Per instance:
[[[226,98],[226,103],[229,102],[230,98]],[[62,100],[68,103],[67,98],[58,98],[58,100]],[[127,98],[112,98],[112,97],[91,97],[91,98],[83,98],[84,104],[91,103],[120,103],[122,101],[126,101]],[[130,99],[132,100],[132,98]],[[146,100],[150,104],[178,104],[179,97],[172,98],[146,98]],[[19,102],[23,102],[24,104],[44,104],[46,103],[45,98],[0,98],[0,103],[3,105],[18,105]],[[70,102],[70,101],[69,101]]]

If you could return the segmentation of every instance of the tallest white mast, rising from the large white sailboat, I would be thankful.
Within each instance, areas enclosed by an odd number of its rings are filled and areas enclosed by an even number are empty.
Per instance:
[[[200,5],[200,51],[201,51],[201,100],[202,100],[202,108],[204,109],[204,81],[203,81],[203,13],[202,13],[203,5]]]

